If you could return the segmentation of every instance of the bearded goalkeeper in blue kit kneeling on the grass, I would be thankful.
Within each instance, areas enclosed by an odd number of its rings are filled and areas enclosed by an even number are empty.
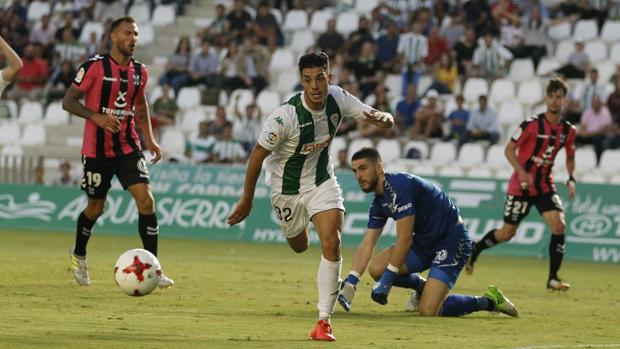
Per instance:
[[[377,281],[372,299],[387,304],[392,286],[412,289],[408,310],[423,316],[462,316],[475,311],[518,316],[517,308],[495,286],[483,296],[448,295],[471,255],[472,240],[458,207],[433,183],[409,174],[386,173],[373,148],[353,155],[352,170],[362,191],[374,192],[368,229],[357,248],[351,272],[341,283],[338,302],[351,310],[360,276]],[[396,221],[396,243],[374,259],[377,241],[388,218]],[[428,279],[419,273],[429,270]]]

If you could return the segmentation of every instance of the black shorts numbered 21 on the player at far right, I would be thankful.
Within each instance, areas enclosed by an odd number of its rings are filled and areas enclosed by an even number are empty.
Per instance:
[[[504,203],[504,222],[519,224],[530,213],[530,208],[535,205],[540,214],[547,211],[564,211],[562,199],[557,193],[549,192],[536,196],[506,195]]]

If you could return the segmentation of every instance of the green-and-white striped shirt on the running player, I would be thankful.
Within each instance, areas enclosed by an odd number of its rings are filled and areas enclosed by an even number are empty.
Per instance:
[[[272,151],[265,182],[272,193],[295,195],[334,177],[329,146],[343,117],[365,119],[372,108],[338,86],[329,86],[324,110],[312,110],[300,92],[265,120],[258,144]]]

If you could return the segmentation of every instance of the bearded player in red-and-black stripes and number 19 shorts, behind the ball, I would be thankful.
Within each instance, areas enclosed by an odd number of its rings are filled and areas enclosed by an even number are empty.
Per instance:
[[[82,190],[88,204],[77,221],[75,246],[70,251],[73,276],[80,285],[89,285],[86,245],[97,218],[103,214],[113,176],[129,191],[138,208],[138,230],[144,249],[157,255],[159,226],[142,144],[136,125],[144,135],[144,147],[161,159],[153,138],[145,91],[146,67],[133,59],[138,26],[132,17],[114,20],[110,27],[112,49],[84,62],[63,100],[63,108],[86,119],[82,160]],[[80,98],[84,96],[84,104]],[[159,286],[174,281],[160,276]]]

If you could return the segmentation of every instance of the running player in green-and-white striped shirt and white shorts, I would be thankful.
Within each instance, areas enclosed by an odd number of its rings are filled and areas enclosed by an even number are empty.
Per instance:
[[[230,225],[244,220],[252,209],[256,181],[267,159],[266,182],[280,227],[295,252],[308,248],[310,221],[316,227],[323,255],[319,263],[319,321],[315,340],[334,341],[330,317],[334,311],[342,257],[340,230],[343,198],[333,172],[329,145],[343,117],[392,127],[389,113],[374,110],[338,86],[330,86],[329,58],[312,52],[299,59],[303,92],[276,109],[265,121],[245,176],[243,196],[228,217]]]

